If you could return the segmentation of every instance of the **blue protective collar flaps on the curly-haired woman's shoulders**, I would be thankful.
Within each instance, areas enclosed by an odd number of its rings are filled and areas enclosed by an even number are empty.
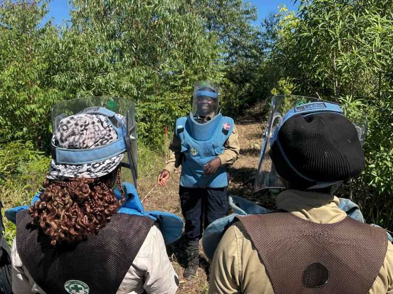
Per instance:
[[[127,214],[135,214],[140,216],[148,216],[158,223],[158,227],[162,233],[162,237],[164,238],[164,242],[166,245],[175,242],[177,239],[181,237],[181,233],[183,231],[183,220],[175,214],[169,212],[162,211],[144,211],[142,202],[139,199],[138,193],[134,187],[134,185],[130,183],[123,182],[121,184],[123,190],[125,192],[125,201],[122,203],[121,207],[117,211],[117,213],[127,213]],[[119,188],[117,187],[115,190],[115,195],[117,199],[121,199],[121,193]],[[41,191],[37,192],[33,199],[31,200],[31,205],[39,199],[39,195],[41,195]],[[18,206],[7,209],[5,211],[5,216],[16,224],[16,213],[25,209],[28,209],[30,206]]]

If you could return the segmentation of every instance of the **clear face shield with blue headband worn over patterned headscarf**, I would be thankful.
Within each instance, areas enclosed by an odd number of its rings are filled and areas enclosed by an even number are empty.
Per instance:
[[[108,117],[117,133],[117,140],[104,146],[90,149],[65,149],[52,143],[52,159],[59,164],[80,166],[110,161],[114,155],[122,156],[121,180],[136,187],[137,179],[137,137],[135,103],[120,97],[87,97],[63,101],[52,107],[52,131],[58,129],[60,121],[69,116],[86,113]],[[94,177],[94,176],[91,176]],[[116,185],[117,183],[115,183]]]

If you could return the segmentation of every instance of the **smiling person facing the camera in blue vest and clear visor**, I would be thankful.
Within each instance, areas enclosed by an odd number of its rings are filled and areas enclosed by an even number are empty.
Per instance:
[[[176,121],[170,159],[157,177],[158,184],[165,185],[181,164],[179,195],[188,242],[188,266],[183,276],[189,281],[198,269],[202,228],[226,212],[227,167],[239,156],[234,121],[219,113],[218,94],[216,83],[195,83],[190,115]]]

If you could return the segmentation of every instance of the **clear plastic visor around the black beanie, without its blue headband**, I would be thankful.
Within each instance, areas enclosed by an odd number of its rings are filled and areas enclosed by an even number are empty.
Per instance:
[[[269,155],[273,133],[277,127],[281,126],[282,119],[289,110],[312,102],[327,102],[339,105],[342,109],[342,114],[354,124],[358,131],[359,141],[361,145],[363,145],[365,134],[367,132],[367,116],[359,110],[312,97],[296,95],[274,96],[271,101],[266,127],[262,133],[263,143],[259,157],[258,170],[255,177],[255,192],[268,188],[285,188]]]

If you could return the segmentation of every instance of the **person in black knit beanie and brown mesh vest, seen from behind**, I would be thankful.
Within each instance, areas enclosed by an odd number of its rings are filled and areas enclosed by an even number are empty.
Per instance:
[[[386,232],[348,217],[332,194],[365,165],[364,128],[342,109],[311,102],[279,116],[277,124],[269,121],[264,143],[270,143],[275,167],[270,173],[277,172],[287,190],[276,198],[277,211],[239,216],[226,230],[209,293],[393,293]]]

